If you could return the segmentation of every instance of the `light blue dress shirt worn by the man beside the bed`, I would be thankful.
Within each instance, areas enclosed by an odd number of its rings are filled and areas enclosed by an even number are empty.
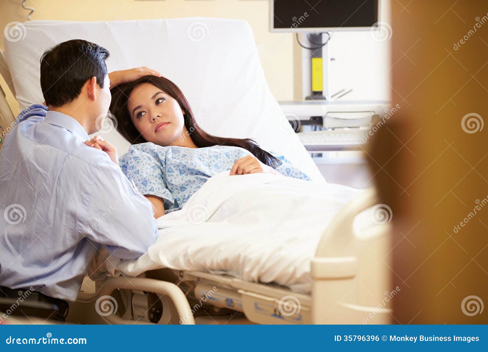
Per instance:
[[[101,245],[138,258],[157,223],[108,155],[83,144],[81,125],[46,110],[20,113],[0,150],[0,285],[73,301]]]

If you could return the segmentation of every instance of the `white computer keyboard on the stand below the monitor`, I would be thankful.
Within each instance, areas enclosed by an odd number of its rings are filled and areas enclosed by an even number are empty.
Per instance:
[[[369,129],[335,129],[312,132],[300,132],[300,138],[305,148],[310,151],[319,150],[348,150],[366,144]]]

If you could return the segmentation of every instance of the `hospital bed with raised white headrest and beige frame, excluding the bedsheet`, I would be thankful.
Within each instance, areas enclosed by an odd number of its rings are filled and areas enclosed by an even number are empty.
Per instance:
[[[43,101],[39,83],[43,51],[65,40],[86,39],[110,51],[109,72],[147,66],[176,82],[207,132],[252,137],[262,148],[285,155],[313,180],[325,184],[267,86],[247,22],[211,18],[32,21],[18,30],[19,40],[4,38],[1,74],[20,108]],[[14,114],[7,111],[2,94],[0,107],[4,123],[11,123]],[[127,150],[128,143],[116,131],[104,137],[117,146],[119,154]],[[274,282],[251,282],[233,276],[232,271],[160,268],[137,277],[97,281],[95,292],[82,290],[70,304],[67,320],[193,324],[210,320],[209,315],[214,322],[226,323],[228,319],[219,320],[219,316],[241,312],[236,315],[238,321],[246,323],[390,323],[392,302],[385,299],[394,291],[389,221],[368,227],[366,235],[358,234],[354,225],[377,203],[375,191],[366,190],[328,223],[309,258],[308,292]],[[307,224],[303,226],[306,229]],[[122,309],[117,311],[114,305]]]

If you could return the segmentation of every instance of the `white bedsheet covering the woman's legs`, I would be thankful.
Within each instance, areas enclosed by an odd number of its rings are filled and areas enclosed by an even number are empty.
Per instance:
[[[107,264],[111,275],[158,268],[211,271],[309,292],[310,259],[332,217],[361,191],[320,181],[249,174],[210,178],[179,211],[158,219],[139,259]]]

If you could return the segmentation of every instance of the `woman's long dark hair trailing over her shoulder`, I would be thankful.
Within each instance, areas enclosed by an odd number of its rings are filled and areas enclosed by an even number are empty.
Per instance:
[[[261,149],[259,145],[250,138],[223,138],[212,136],[198,126],[193,116],[190,104],[183,95],[183,92],[176,84],[164,77],[152,75],[143,76],[133,82],[122,83],[110,90],[112,93],[112,102],[110,103],[110,112],[117,119],[117,130],[130,144],[146,143],[141,133],[136,129],[129,115],[127,103],[129,95],[134,88],[143,83],[150,83],[161,89],[164,93],[175,99],[184,111],[184,125],[188,131],[193,143],[198,148],[212,147],[215,145],[241,147],[251,152],[263,164],[274,167],[278,161],[273,155]]]

